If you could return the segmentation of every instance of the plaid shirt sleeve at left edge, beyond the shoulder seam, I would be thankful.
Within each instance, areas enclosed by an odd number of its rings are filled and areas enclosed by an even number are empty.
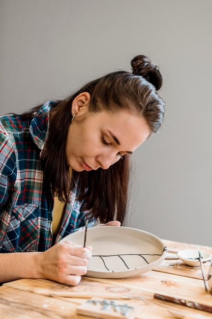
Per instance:
[[[16,155],[12,142],[0,132],[0,212],[10,200],[16,175]]]

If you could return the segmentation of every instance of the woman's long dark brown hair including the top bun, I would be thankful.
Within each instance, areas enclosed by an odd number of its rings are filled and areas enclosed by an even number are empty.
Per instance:
[[[80,190],[78,199],[86,199],[84,209],[88,209],[89,214],[99,218],[102,223],[114,218],[124,222],[128,203],[129,155],[107,170],[73,171],[70,178],[65,150],[72,120],[71,107],[76,96],[88,92],[89,112],[128,110],[143,117],[150,131],[156,133],[165,112],[165,103],[157,93],[162,86],[162,73],[145,56],[135,57],[131,66],[132,73],[120,70],[106,74],[87,83],[67,98],[57,100],[52,109],[56,116],[52,119],[50,117],[49,135],[42,153],[44,183],[51,185],[52,194],[56,193],[59,200],[69,201],[69,193],[77,183]],[[40,106],[22,116],[32,118]]]

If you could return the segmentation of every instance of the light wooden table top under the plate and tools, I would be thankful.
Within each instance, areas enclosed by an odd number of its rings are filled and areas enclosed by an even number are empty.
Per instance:
[[[164,240],[168,249],[201,249],[212,254],[212,247],[198,246]],[[207,275],[209,262],[204,264]],[[49,291],[88,291],[143,296],[144,301],[127,301],[142,305],[140,319],[173,318],[169,310],[188,314],[188,318],[209,318],[212,314],[185,306],[153,299],[153,294],[163,294],[212,306],[212,295],[206,294],[200,267],[189,267],[179,259],[167,259],[153,271],[125,279],[98,279],[83,277],[75,286],[67,286],[44,279],[21,279],[0,287],[0,318],[68,319],[91,318],[76,314],[76,307],[84,299],[48,297],[34,293],[36,288]],[[190,315],[190,316],[189,316]],[[176,316],[175,316],[176,317]],[[187,317],[185,317],[187,318]]]

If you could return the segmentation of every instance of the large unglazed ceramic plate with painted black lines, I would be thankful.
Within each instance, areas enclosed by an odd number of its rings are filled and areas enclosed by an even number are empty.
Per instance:
[[[62,241],[84,243],[84,230]],[[87,228],[86,245],[92,246],[87,263],[88,277],[125,278],[146,273],[165,259],[167,247],[159,237],[139,229],[117,226]]]

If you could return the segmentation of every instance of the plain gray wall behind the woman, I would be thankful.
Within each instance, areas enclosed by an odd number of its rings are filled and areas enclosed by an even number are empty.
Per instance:
[[[147,55],[167,103],[133,155],[128,226],[212,245],[212,1],[2,0],[1,114],[60,98]]]

